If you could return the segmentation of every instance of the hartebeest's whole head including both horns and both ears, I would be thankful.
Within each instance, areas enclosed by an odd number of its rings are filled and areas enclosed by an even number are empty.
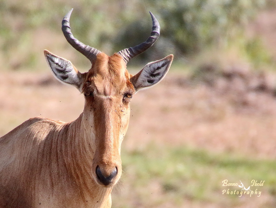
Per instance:
[[[91,61],[91,69],[80,73],[69,60],[47,50],[44,54],[55,77],[84,94],[82,122],[84,139],[89,140],[94,152],[92,175],[97,184],[112,187],[121,176],[120,149],[128,128],[132,95],[158,83],[168,72],[173,55],[148,63],[133,76],[126,64],[159,37],[160,26],[154,15],[150,12],[152,33],[144,43],[107,56],[74,38],[69,23],[72,10],[63,18],[62,31],[67,41]]]

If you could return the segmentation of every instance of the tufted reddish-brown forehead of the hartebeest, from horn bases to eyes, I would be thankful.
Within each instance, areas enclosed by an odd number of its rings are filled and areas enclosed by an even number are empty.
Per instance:
[[[126,64],[119,54],[107,56],[99,53],[87,78],[89,82],[94,82],[98,93],[107,96],[120,91],[126,85],[126,72]]]

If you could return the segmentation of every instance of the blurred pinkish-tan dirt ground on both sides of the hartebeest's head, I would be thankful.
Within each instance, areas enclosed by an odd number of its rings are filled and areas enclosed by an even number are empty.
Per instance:
[[[274,75],[240,69],[212,73],[204,72],[198,81],[172,71],[158,85],[139,91],[123,146],[185,145],[275,159]],[[70,121],[83,110],[83,95],[51,73],[2,73],[0,89],[0,135],[30,117]]]

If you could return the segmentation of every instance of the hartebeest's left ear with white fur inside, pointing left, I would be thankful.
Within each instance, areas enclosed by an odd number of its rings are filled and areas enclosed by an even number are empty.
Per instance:
[[[70,61],[56,56],[47,50],[44,50],[44,56],[46,58],[47,64],[59,81],[74,85],[80,90],[82,84],[81,73],[73,66]]]

